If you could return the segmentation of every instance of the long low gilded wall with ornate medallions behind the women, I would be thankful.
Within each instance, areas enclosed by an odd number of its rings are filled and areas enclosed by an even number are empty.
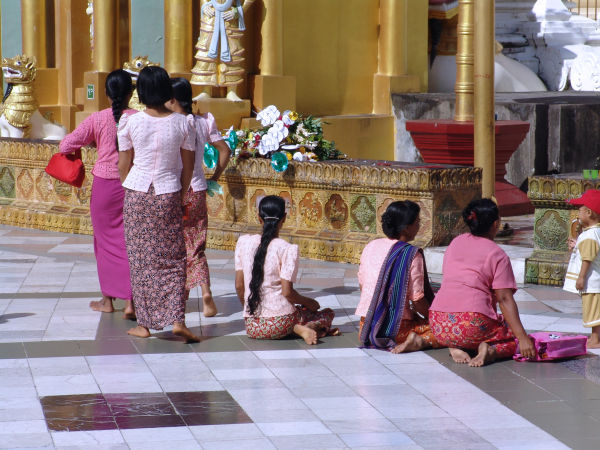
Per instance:
[[[96,153],[84,148],[81,189],[45,172],[56,143],[0,139],[0,223],[91,234],[89,199]],[[288,202],[282,235],[305,257],[358,263],[364,245],[383,236],[379,218],[395,200],[421,205],[416,243],[445,245],[463,231],[461,211],[481,196],[481,170],[376,161],[290,163],[277,173],[267,159],[230,166],[223,194],[208,198],[210,248],[231,250],[243,233],[259,232],[257,200],[276,194]]]

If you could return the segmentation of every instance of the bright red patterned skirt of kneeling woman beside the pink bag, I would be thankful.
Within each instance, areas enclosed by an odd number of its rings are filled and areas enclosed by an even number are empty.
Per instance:
[[[479,344],[487,342],[495,348],[498,358],[511,358],[517,349],[515,336],[502,316],[494,320],[474,312],[429,311],[429,323],[438,342],[445,347],[476,350]]]

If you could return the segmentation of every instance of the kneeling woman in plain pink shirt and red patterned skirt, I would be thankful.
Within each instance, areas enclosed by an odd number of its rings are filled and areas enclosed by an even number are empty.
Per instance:
[[[475,200],[463,211],[463,219],[471,232],[448,246],[442,287],[429,311],[435,337],[450,348],[455,362],[473,367],[512,357],[515,337],[521,354],[533,357],[535,350],[513,297],[517,284],[510,259],[493,241],[500,226],[498,207],[487,198]],[[468,354],[471,350],[477,351],[474,358]]]

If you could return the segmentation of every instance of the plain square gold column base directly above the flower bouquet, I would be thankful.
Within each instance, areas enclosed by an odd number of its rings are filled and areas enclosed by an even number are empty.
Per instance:
[[[269,105],[280,111],[296,110],[296,77],[255,75],[250,77],[254,107],[260,111]]]

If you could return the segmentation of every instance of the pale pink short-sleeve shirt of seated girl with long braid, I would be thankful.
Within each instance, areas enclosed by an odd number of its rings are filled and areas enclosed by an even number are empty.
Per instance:
[[[250,280],[254,255],[260,244],[260,234],[240,236],[235,246],[235,270],[244,272],[244,317],[249,317],[247,301],[250,296]],[[264,265],[261,287],[260,317],[277,317],[293,314],[296,307],[281,294],[281,280],[294,283],[298,273],[298,246],[275,238],[269,244]]]

